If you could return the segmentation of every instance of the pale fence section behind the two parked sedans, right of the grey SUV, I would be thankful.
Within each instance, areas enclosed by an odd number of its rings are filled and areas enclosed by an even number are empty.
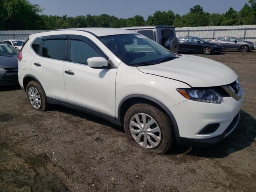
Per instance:
[[[175,28],[176,36],[195,36],[205,40],[218,37],[237,37],[247,41],[256,41],[256,25],[240,26],[207,26],[207,27],[181,27]]]

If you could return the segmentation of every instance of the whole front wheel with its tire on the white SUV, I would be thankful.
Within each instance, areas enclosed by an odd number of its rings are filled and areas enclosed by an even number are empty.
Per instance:
[[[151,122],[156,122],[152,125],[150,125],[148,128],[146,129],[140,129],[138,128],[138,123],[136,121],[136,117],[139,117],[139,124],[143,124],[143,118],[142,115],[146,116],[146,122],[149,123]],[[137,123],[136,126],[134,125],[134,122]],[[144,124],[143,124],[144,125]],[[151,137],[152,136],[152,132],[148,131],[148,130],[152,130],[154,128],[157,128],[157,126],[160,128],[160,132],[155,132],[155,136],[154,138]],[[145,125],[144,125],[145,127]],[[142,131],[143,130],[143,131]],[[156,129],[155,129],[156,130]],[[158,129],[159,130],[159,129]],[[139,148],[142,148],[144,150],[147,150],[148,152],[152,152],[152,153],[159,153],[159,154],[164,154],[166,153],[168,150],[170,150],[175,144],[176,144],[176,140],[175,140],[175,133],[174,133],[174,128],[172,126],[172,123],[170,122],[170,119],[168,118],[168,116],[166,116],[166,114],[164,112],[162,112],[162,110],[158,109],[155,106],[152,106],[150,104],[146,104],[146,103],[138,103],[138,104],[134,104],[133,106],[131,106],[125,116],[124,116],[124,131],[126,133],[126,136],[128,138],[128,140],[134,145],[137,146]],[[131,132],[132,131],[132,132]],[[135,134],[134,132],[139,132],[138,134]],[[139,136],[139,134],[141,134],[142,136]],[[144,135],[146,134],[146,147],[144,147]],[[155,140],[156,136],[158,138],[160,138],[160,140]],[[148,137],[150,139],[148,139]],[[136,138],[137,138],[137,142],[136,142]],[[139,140],[139,142],[138,142]],[[152,143],[152,141],[154,142],[154,145],[150,144]]]

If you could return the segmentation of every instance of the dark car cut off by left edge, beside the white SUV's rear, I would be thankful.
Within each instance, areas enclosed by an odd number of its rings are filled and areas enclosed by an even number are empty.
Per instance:
[[[0,86],[18,84],[18,50],[0,42]]]

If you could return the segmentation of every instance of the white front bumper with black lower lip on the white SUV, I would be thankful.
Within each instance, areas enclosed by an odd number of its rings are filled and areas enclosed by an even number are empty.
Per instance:
[[[186,100],[171,106],[169,110],[179,130],[179,134],[176,134],[177,142],[193,146],[198,144],[207,146],[219,142],[236,127],[243,99],[242,92],[242,98],[238,101],[232,97],[224,97],[220,104]],[[211,124],[219,124],[219,126],[214,132],[202,134],[201,131]]]

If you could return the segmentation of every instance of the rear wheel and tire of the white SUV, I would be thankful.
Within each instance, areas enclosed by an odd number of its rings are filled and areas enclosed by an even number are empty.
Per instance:
[[[28,82],[28,85],[26,87],[26,94],[27,94],[29,103],[35,110],[38,110],[38,111],[47,110],[48,103],[46,100],[46,95],[45,95],[44,89],[38,82],[36,81]]]

